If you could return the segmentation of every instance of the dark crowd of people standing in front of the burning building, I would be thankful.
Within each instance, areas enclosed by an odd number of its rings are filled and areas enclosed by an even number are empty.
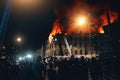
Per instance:
[[[16,64],[10,57],[0,58],[0,80],[103,80],[109,73],[110,60],[72,55],[68,58],[38,56],[33,61]]]

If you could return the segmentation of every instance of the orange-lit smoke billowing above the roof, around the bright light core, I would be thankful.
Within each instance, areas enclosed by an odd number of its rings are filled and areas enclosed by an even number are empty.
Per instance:
[[[61,25],[62,33],[89,33],[89,31],[91,33],[104,33],[102,27],[108,25],[107,11],[110,12],[110,23],[118,19],[118,14],[109,9],[107,0],[104,2],[96,1],[95,5],[89,1],[55,0],[56,20]],[[76,20],[81,16],[86,17],[86,22],[84,25],[77,25]]]

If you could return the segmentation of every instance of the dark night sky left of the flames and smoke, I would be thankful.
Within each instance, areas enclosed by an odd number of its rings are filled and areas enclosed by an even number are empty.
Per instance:
[[[0,1],[0,11],[2,13],[4,2],[4,0]],[[16,37],[20,36],[23,38],[23,42],[20,44],[21,47],[26,49],[39,49],[41,47],[41,44],[49,36],[55,15],[53,2],[45,0],[41,5],[39,4],[41,3],[28,5],[29,9],[26,6],[19,7],[19,5],[12,3],[10,13],[8,14],[9,18],[6,22],[7,29],[4,45],[8,47],[14,46]],[[1,12],[0,16],[3,15]]]

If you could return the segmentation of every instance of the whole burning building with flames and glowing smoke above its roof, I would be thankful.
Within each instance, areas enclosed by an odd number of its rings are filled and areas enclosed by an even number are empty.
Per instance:
[[[118,19],[118,13],[109,4],[91,5],[84,0],[56,0],[56,20],[49,40],[46,55],[111,53],[109,35],[104,26]]]

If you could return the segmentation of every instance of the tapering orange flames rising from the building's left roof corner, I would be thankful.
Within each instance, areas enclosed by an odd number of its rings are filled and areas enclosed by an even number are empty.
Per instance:
[[[53,36],[55,36],[56,34],[61,34],[62,33],[60,27],[61,27],[61,25],[59,24],[58,20],[56,20],[53,24],[52,31],[49,35],[49,42],[50,43],[52,42]]]

